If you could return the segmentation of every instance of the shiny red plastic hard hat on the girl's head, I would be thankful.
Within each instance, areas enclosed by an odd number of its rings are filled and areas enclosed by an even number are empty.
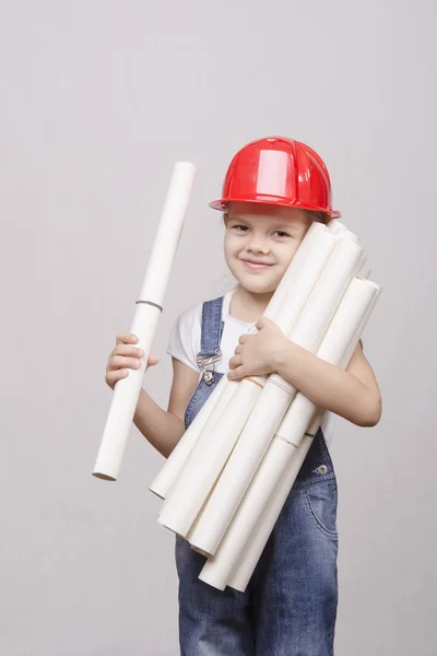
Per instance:
[[[309,145],[267,137],[237,152],[223,183],[222,198],[210,207],[226,210],[232,201],[265,202],[341,216],[331,206],[328,168]]]

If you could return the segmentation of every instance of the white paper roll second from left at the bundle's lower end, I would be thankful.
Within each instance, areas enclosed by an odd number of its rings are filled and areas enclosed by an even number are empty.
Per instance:
[[[303,247],[304,250],[300,251]],[[305,305],[306,298],[320,277],[321,271],[323,271],[330,253],[333,248],[335,250],[336,247],[338,245],[332,233],[326,226],[317,223],[311,225],[297,251],[297,254],[300,251],[300,257],[296,260],[296,254],[292,260],[291,267],[295,262],[294,266],[298,267],[298,269],[294,277],[288,276],[288,280],[293,279],[287,294],[290,301],[286,303],[283,302],[280,305],[277,316],[275,317],[279,324],[284,325],[284,318],[287,318],[287,316],[293,316],[294,320],[296,320]],[[350,248],[354,249],[354,251],[357,249],[359,254],[362,253],[362,249],[352,243]],[[343,250],[344,247],[341,247],[341,251]],[[321,257],[320,253],[322,254]],[[303,281],[307,281],[306,285]],[[283,289],[282,284],[280,286]],[[295,295],[294,290],[300,290],[302,288],[305,288],[306,293],[296,293]],[[187,537],[198,513],[201,511],[213,484],[228,459],[262,391],[264,382],[265,377],[257,376],[245,378],[238,383],[238,388],[226,407],[226,412],[223,413],[221,421],[212,427],[210,433],[206,432],[209,422],[206,423],[175,482],[172,496],[161,513],[160,524],[180,536]],[[286,388],[285,383],[283,387]],[[202,546],[194,546],[203,550]]]

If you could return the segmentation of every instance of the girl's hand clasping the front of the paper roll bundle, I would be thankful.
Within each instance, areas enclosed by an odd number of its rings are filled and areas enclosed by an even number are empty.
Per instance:
[[[262,317],[256,325],[259,332],[241,335],[235,355],[229,360],[229,380],[245,376],[262,376],[274,371],[274,355],[290,348],[290,340],[281,328]]]

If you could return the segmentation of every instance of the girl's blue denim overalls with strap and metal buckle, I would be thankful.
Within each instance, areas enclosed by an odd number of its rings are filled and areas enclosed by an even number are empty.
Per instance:
[[[198,362],[220,355],[223,297],[202,311]],[[204,367],[194,419],[223,374]],[[181,656],[332,656],[338,607],[336,479],[321,430],[245,593],[199,581],[205,558],[176,537]]]

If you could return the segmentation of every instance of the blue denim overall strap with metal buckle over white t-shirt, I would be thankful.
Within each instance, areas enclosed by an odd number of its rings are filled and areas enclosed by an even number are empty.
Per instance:
[[[197,362],[203,370],[203,380],[206,385],[214,383],[214,363],[222,360],[220,349],[223,332],[222,307],[223,296],[205,301],[202,307],[201,345]]]

